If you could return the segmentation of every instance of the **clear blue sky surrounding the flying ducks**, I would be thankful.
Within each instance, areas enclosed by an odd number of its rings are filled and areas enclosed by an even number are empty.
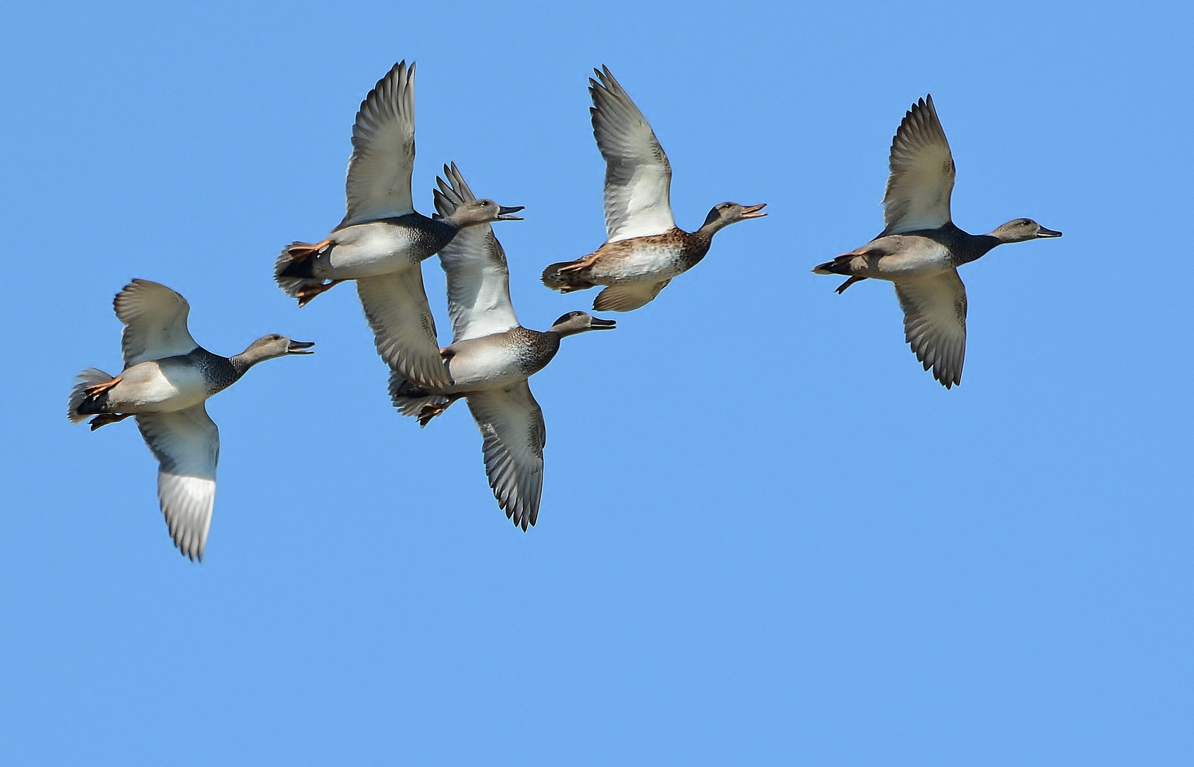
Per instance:
[[[1189,763],[1184,5],[25,2],[0,29],[5,763]],[[416,204],[455,160],[527,205],[498,234],[528,326],[592,299],[538,283],[604,235],[591,67],[654,125],[681,226],[769,203],[535,376],[525,534],[464,407],[393,412],[355,292],[298,311],[271,280],[339,221],[353,112],[404,57]],[[954,391],[890,287],[810,272],[881,228],[927,92],[956,222],[1065,232],[962,271]],[[119,367],[134,276],[215,351],[319,342],[210,403],[203,565],[133,424],[64,418],[79,369]]]

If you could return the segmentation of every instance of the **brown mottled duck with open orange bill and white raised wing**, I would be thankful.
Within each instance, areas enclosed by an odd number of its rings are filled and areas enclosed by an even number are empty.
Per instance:
[[[605,159],[607,240],[584,258],[552,264],[543,284],[560,293],[608,286],[593,309],[629,312],[648,303],[679,274],[709,252],[721,228],[765,216],[765,203],[715,205],[696,232],[676,226],[671,211],[671,165],[659,140],[609,68],[593,70],[593,136]]]

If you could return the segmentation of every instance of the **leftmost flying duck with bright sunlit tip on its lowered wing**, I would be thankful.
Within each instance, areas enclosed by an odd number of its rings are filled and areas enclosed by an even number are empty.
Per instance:
[[[116,294],[124,324],[124,370],[88,368],[70,392],[67,415],[91,429],[135,416],[160,464],[158,499],[178,550],[203,560],[216,495],[220,431],[203,403],[263,360],[312,354],[314,343],[263,336],[232,357],[211,354],[186,330],[186,299],[164,284],[134,280]]]

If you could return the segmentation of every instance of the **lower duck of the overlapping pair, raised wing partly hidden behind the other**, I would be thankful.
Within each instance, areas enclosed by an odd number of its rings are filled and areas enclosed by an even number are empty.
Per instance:
[[[451,215],[473,200],[473,192],[455,167],[445,167],[444,174],[450,183],[439,180],[436,209]],[[418,417],[424,427],[464,398],[481,430],[485,473],[493,496],[506,516],[525,530],[538,517],[547,440],[543,411],[527,379],[552,361],[565,336],[610,330],[615,323],[570,312],[546,332],[519,325],[510,303],[506,256],[488,225],[461,232],[439,252],[439,260],[448,272],[453,326],[453,343],[443,350],[443,360],[454,382],[419,386],[394,372],[390,398],[399,412]]]

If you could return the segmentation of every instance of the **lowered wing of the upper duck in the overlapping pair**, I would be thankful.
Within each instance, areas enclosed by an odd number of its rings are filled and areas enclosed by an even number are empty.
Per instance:
[[[420,386],[448,386],[419,265],[356,282],[377,354],[386,364]]]

